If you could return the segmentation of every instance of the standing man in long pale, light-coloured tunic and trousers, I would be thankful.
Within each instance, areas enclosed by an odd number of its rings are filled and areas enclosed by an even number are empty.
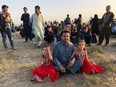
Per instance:
[[[44,30],[43,30],[43,16],[40,12],[40,6],[35,6],[35,13],[31,17],[32,32],[35,35],[34,46],[41,46],[44,41]]]

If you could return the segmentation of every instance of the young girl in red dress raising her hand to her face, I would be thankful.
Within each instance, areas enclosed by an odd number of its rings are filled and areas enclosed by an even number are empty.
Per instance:
[[[54,69],[54,64],[52,62],[50,46],[44,45],[40,66],[33,70],[31,80],[37,82],[54,82],[58,77],[59,73]]]

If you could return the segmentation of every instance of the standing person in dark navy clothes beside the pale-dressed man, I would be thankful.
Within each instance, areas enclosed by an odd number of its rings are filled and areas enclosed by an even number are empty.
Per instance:
[[[32,40],[32,28],[30,23],[30,14],[27,13],[27,7],[23,8],[24,14],[21,16],[21,21],[23,21],[23,28],[24,28],[24,36],[25,36],[25,42],[28,41],[28,39]]]

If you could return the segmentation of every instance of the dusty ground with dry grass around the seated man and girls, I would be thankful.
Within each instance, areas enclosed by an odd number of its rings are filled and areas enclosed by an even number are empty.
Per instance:
[[[16,51],[5,50],[0,36],[0,87],[116,87],[116,37],[107,47],[92,44],[88,47],[89,58],[105,68],[103,74],[67,74],[56,82],[35,83],[30,81],[31,72],[41,56],[41,49],[33,42],[23,43],[14,37]],[[8,41],[9,43],[9,41]]]

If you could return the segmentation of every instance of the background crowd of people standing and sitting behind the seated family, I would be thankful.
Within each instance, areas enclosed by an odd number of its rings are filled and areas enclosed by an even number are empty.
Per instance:
[[[69,14],[67,14],[67,17],[61,22],[57,22],[56,20],[54,22],[44,22],[39,6],[35,6],[35,13],[31,17],[28,13],[28,8],[24,7],[24,13],[21,16],[21,21],[23,21],[21,36],[25,38],[25,42],[27,42],[28,39],[32,41],[32,38],[34,37],[34,46],[39,48],[44,41],[47,43],[60,41],[61,31],[68,30],[71,33],[70,39],[73,44],[81,39],[85,40],[86,44],[91,46],[91,43],[97,43],[98,36],[98,45],[102,44],[105,37],[105,46],[107,46],[109,44],[109,33],[111,33],[111,22],[114,18],[114,14],[110,12],[110,9],[111,6],[108,5],[106,7],[106,13],[101,19],[95,14],[93,18],[91,17],[88,23],[83,23],[82,14],[79,14],[78,18],[75,18],[74,20],[71,20]],[[14,49],[12,35],[10,34],[12,19],[10,13],[7,13],[8,6],[3,5],[0,14],[6,14],[5,19],[7,19],[7,22],[1,24],[2,26],[5,26],[1,28],[3,29],[1,30],[1,34],[4,47],[6,49],[8,48],[6,43],[7,34],[11,47]]]

